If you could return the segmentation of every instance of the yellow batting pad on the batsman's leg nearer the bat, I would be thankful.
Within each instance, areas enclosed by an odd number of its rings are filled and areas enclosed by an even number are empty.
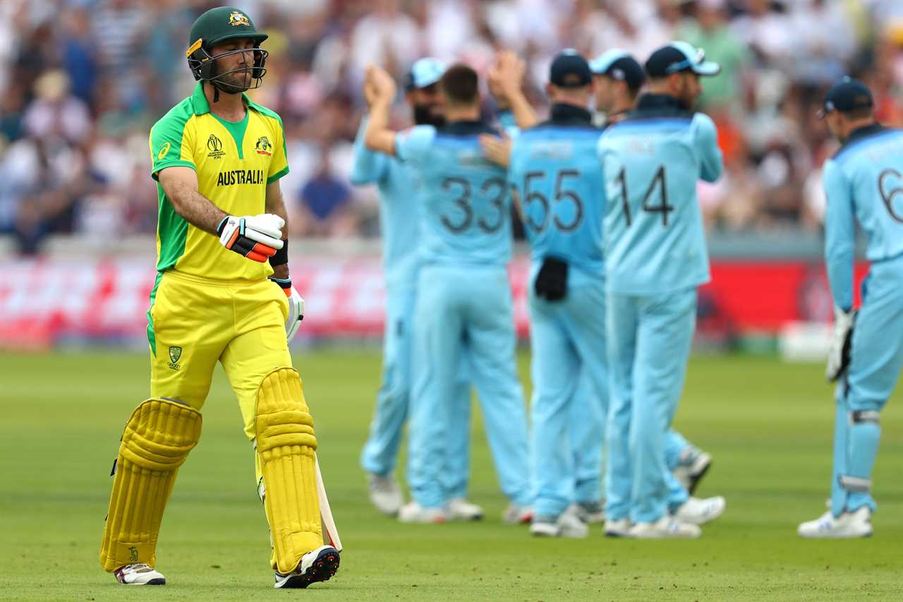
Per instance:
[[[266,375],[257,392],[255,431],[274,569],[288,573],[306,552],[323,545],[314,455],[317,438],[298,372],[279,368]]]

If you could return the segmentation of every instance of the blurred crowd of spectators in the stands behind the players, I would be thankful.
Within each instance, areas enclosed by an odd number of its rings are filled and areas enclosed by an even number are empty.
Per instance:
[[[225,0],[224,0],[225,2]],[[194,85],[185,61],[198,0],[0,2],[0,234],[25,252],[50,233],[153,233],[151,124]],[[700,188],[711,230],[817,231],[820,165],[836,145],[815,111],[851,73],[878,117],[903,125],[900,0],[235,0],[270,52],[257,102],[284,120],[282,181],[294,235],[378,236],[376,193],[349,182],[368,62],[399,79],[416,59],[484,72],[499,49],[542,92],[555,52],[620,47],[640,62],[682,39],[723,67],[701,107],[719,126],[726,172]],[[486,100],[487,115],[494,107]],[[396,125],[409,121],[399,99]]]

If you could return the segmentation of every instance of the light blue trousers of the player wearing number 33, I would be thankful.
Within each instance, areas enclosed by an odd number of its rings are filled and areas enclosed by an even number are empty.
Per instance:
[[[513,503],[533,502],[526,408],[515,363],[511,289],[503,267],[429,265],[420,269],[414,310],[414,399],[408,484],[425,508],[446,503],[444,458],[458,411],[456,366],[465,358],[477,389],[501,489]]]

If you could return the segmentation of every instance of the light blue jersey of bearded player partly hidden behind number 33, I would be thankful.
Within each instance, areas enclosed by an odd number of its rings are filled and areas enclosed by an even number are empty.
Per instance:
[[[364,145],[367,118],[354,140],[355,185],[376,183],[379,191],[379,230],[383,238],[383,271],[386,287],[414,286],[417,274],[419,179],[412,165]]]

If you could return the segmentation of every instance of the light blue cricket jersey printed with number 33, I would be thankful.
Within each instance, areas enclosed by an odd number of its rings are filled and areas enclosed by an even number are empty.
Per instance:
[[[419,175],[424,264],[504,266],[511,257],[506,171],[483,157],[480,134],[498,136],[475,121],[416,126],[396,136],[396,155]]]

